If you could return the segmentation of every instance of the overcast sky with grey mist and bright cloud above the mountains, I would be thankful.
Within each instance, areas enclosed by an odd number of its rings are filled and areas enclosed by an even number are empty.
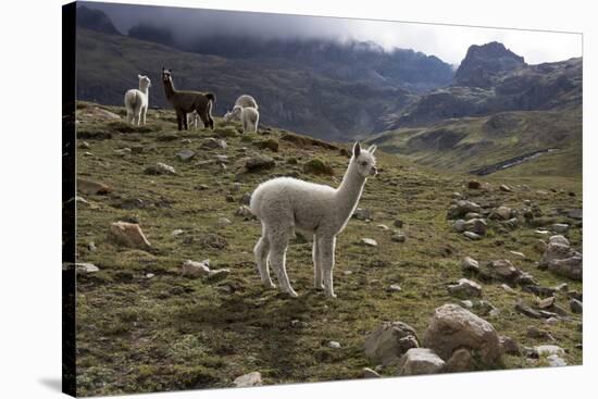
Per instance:
[[[500,41],[538,64],[582,55],[582,36],[551,32],[495,29],[384,21],[212,11],[170,7],[87,3],[104,11],[126,34],[139,22],[169,27],[179,40],[207,35],[249,35],[262,38],[334,38],[371,40],[385,49],[413,49],[458,65],[471,45]]]

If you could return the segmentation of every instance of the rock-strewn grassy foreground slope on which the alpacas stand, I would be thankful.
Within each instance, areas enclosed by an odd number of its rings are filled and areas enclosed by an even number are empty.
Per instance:
[[[290,299],[260,285],[246,205],[273,176],[337,185],[349,146],[123,113],[77,110],[79,395],[582,363],[581,176],[473,180],[378,151],[338,298],[298,236]]]

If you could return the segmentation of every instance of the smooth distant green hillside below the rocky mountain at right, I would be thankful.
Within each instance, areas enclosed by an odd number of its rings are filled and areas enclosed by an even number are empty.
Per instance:
[[[559,149],[499,172],[498,176],[582,175],[582,110],[518,111],[461,117],[425,127],[385,132],[369,139],[419,164],[466,173],[537,150]]]

